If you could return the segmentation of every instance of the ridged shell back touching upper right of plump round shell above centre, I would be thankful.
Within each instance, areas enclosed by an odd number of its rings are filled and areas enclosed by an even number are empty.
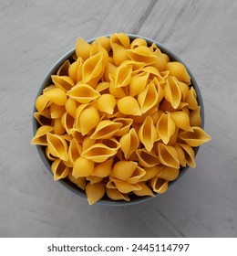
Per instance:
[[[136,76],[133,76],[129,83],[129,95],[134,97],[141,91],[144,91],[149,78],[149,72],[141,72]]]

